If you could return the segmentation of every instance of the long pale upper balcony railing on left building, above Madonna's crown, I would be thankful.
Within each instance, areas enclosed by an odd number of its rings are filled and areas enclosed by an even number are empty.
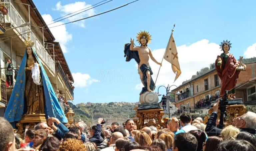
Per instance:
[[[33,49],[36,51],[37,55],[40,57],[40,59],[45,63],[49,69],[55,73],[55,64],[51,56],[48,54],[48,52],[44,49],[44,46],[41,44],[41,42],[36,38],[35,34],[31,31],[31,29],[28,26],[25,27],[19,27],[20,25],[26,23],[21,15],[18,13],[18,11],[14,8],[12,3],[5,3],[8,6],[8,14],[5,15],[5,22],[11,23],[12,26],[18,27],[16,30],[21,34],[19,36],[21,39],[27,39],[27,34],[30,32],[30,39],[35,42],[35,45],[33,46]]]

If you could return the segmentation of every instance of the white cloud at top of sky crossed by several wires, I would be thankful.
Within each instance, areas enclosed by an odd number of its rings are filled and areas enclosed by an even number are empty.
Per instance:
[[[55,6],[55,10],[58,10],[58,11],[62,12],[63,13],[62,16],[65,16],[67,14],[70,14],[70,13],[73,13],[75,11],[78,11],[78,10],[81,10],[81,9],[84,9],[84,8],[87,8],[87,7],[91,7],[91,6],[92,5],[86,4],[85,2],[75,2],[75,3],[66,4],[66,5],[61,5],[61,2],[58,2]],[[87,8],[87,9],[90,9],[90,8]],[[84,9],[84,10],[87,10],[87,9]],[[82,11],[84,11],[84,10],[82,10]],[[79,12],[82,12],[82,11],[79,11]],[[77,13],[79,13],[79,12],[77,12]],[[76,13],[74,13],[74,14],[76,14]],[[72,14],[72,15],[74,15],[74,14]],[[68,18],[68,20],[69,21],[74,21],[74,20],[82,19],[82,18],[85,18],[85,17],[88,17],[88,16],[92,16],[94,14],[95,14],[95,10],[90,9],[90,10],[87,10],[87,11],[82,12],[80,14],[77,14],[75,16],[72,16],[72,17]],[[75,22],[75,24],[77,24],[80,27],[85,27],[84,22],[85,22],[85,20],[82,20],[82,21],[79,21],[79,22]]]

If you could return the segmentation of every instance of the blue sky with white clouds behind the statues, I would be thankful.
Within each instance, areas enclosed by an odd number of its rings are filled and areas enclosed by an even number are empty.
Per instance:
[[[96,7],[66,23],[112,8],[132,0],[113,0]],[[34,0],[48,23],[100,0]],[[69,68],[75,78],[74,103],[138,102],[141,84],[134,60],[125,62],[123,48],[140,30],[149,31],[148,45],[153,56],[161,61],[176,24],[174,38],[179,53],[182,74],[177,81],[171,64],[163,62],[156,83],[181,84],[203,67],[213,63],[221,53],[219,44],[230,40],[230,52],[236,57],[256,57],[256,1],[171,1],[139,0],[118,10],[65,26],[52,28],[56,41],[65,51]],[[58,23],[56,23],[58,24]],[[54,25],[54,24],[53,24]],[[136,43],[138,45],[138,43]],[[154,80],[159,66],[150,62]],[[172,87],[173,89],[175,87]],[[164,94],[165,89],[160,88]]]

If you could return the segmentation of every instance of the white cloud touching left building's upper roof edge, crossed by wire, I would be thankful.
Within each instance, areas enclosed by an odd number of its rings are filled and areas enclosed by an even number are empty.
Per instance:
[[[53,23],[52,22],[53,19],[52,19],[51,15],[44,14],[44,15],[42,15],[42,17],[47,25]],[[53,26],[61,25],[61,24],[63,24],[63,22],[56,22],[54,24],[48,25],[48,27],[50,28]],[[72,40],[72,34],[68,33],[65,25],[53,27],[53,28],[50,28],[50,30],[56,39],[55,41],[60,43],[63,53],[66,53],[67,52],[66,44],[70,40]]]

